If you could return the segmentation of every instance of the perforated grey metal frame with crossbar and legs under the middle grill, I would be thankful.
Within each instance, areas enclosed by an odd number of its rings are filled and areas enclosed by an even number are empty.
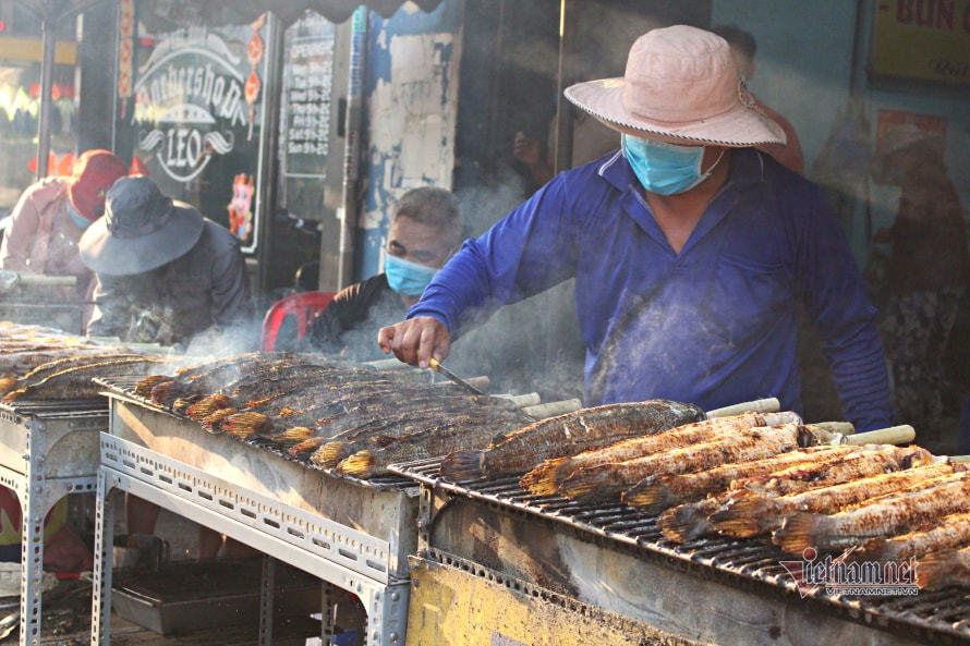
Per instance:
[[[251,491],[213,478],[172,459],[107,434],[101,435],[98,474],[97,549],[92,645],[109,644],[111,607],[110,559],[113,523],[107,499],[118,489],[154,502],[168,511],[248,545],[322,581],[351,592],[367,614],[367,646],[401,646],[408,621],[409,582],[378,581],[363,574],[374,570],[386,546],[364,533],[340,525]],[[356,551],[354,551],[356,550]],[[386,557],[385,557],[386,558]],[[264,569],[263,585],[271,584],[271,565]],[[387,573],[386,564],[383,571]],[[260,604],[260,644],[271,638],[271,598]],[[329,605],[329,601],[328,601]],[[328,609],[329,614],[329,609]],[[324,617],[324,623],[328,623]],[[329,634],[328,634],[329,631]],[[328,642],[332,629],[322,633]]]

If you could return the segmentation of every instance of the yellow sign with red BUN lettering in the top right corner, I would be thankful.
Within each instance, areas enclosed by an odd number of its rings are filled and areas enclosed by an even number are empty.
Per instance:
[[[970,0],[875,2],[872,70],[970,85]]]

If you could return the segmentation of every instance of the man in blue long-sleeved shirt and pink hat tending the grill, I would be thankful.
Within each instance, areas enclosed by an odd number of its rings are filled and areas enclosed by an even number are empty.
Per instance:
[[[668,398],[705,409],[777,397],[799,411],[796,306],[819,327],[846,417],[892,417],[861,276],[817,186],[753,146],[784,143],[728,44],[677,25],[630,50],[623,78],[566,97],[622,147],[559,174],[438,272],[378,343],[444,359],[464,327],[575,277],[585,404]]]

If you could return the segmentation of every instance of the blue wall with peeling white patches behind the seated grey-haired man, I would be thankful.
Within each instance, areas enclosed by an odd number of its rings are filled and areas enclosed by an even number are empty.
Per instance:
[[[405,3],[369,14],[364,88],[367,151],[355,279],[380,271],[395,202],[411,188],[451,188],[461,60],[461,1],[432,13]]]

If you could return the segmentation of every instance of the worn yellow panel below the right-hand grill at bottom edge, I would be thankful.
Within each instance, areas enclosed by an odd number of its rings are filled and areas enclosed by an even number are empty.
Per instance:
[[[696,645],[475,565],[411,564],[407,646]]]

